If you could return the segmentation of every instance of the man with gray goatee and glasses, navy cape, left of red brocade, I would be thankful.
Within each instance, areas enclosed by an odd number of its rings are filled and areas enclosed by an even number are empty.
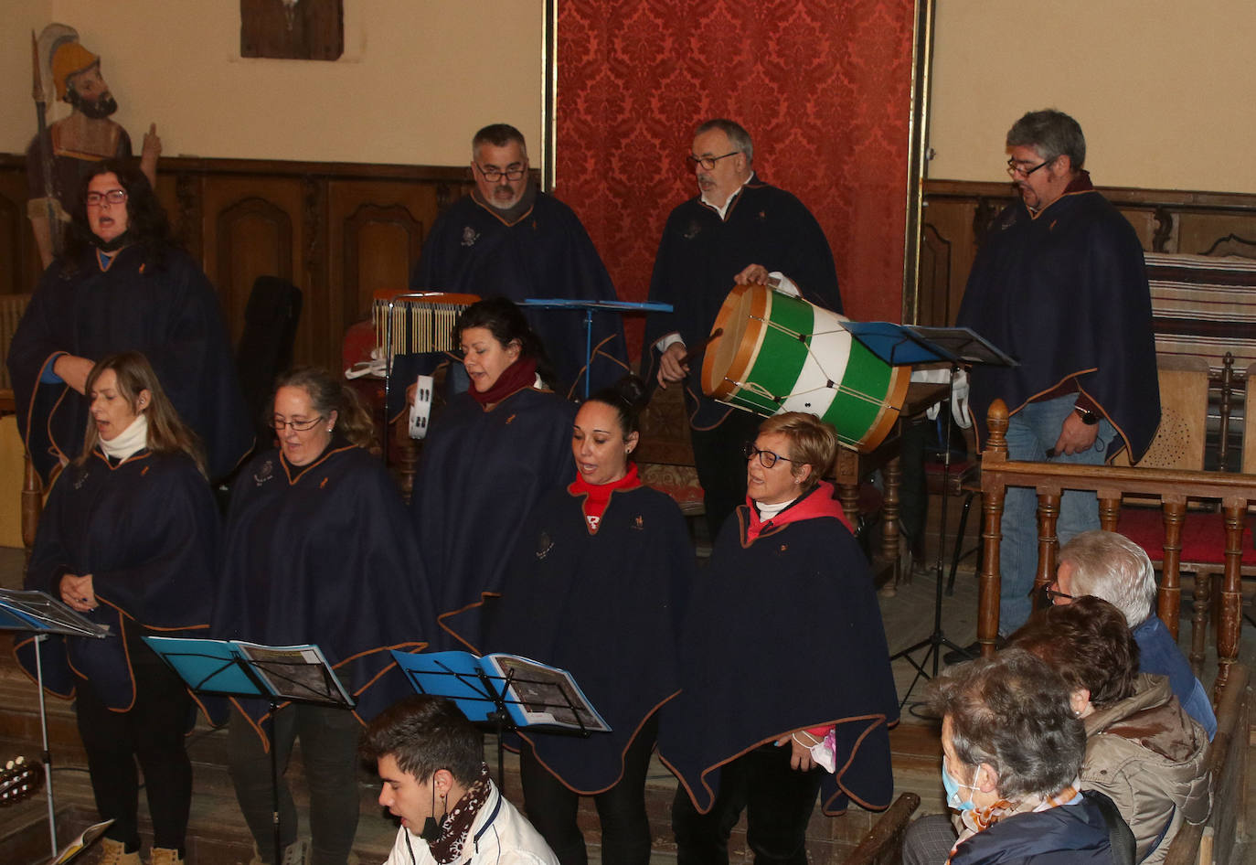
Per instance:
[[[436,220],[411,276],[412,291],[456,291],[481,298],[615,300],[593,241],[575,212],[539,191],[528,171],[528,146],[512,126],[494,123],[471,139],[475,191]],[[525,309],[566,394],[584,395],[585,333],[582,310]],[[593,315],[590,393],[628,372],[618,313]],[[451,375],[465,390],[457,364]],[[565,394],[565,395],[566,395]]]

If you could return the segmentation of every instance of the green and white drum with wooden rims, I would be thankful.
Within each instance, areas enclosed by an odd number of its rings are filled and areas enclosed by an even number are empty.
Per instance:
[[[765,417],[810,412],[843,444],[872,451],[898,419],[909,367],[891,367],[842,326],[848,319],[762,285],[728,293],[702,360],[707,395]]]

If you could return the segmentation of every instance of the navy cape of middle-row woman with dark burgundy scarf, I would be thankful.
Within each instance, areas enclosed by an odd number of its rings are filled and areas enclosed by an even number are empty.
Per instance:
[[[497,594],[524,520],[574,475],[575,406],[521,388],[485,409],[456,395],[432,426],[411,512],[441,633],[433,649],[482,644],[485,595]]]

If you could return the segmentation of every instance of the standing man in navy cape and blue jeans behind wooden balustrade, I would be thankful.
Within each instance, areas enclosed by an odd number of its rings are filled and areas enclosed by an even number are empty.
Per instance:
[[[1081,127],[1030,112],[1007,132],[1007,173],[1020,201],[977,252],[958,324],[1020,362],[977,367],[970,404],[978,434],[1002,399],[1011,459],[1102,465],[1122,447],[1137,461],[1161,419],[1152,305],[1134,228],[1083,169]],[[1010,488],[1004,503],[999,633],[1029,618],[1037,566],[1037,501]],[[1065,492],[1061,544],[1099,527],[1094,493]],[[973,647],[970,647],[970,650]],[[947,655],[953,663],[958,653]]]

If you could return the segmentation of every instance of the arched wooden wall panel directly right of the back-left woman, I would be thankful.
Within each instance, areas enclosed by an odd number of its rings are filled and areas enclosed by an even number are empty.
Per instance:
[[[254,280],[280,276],[304,290],[304,274],[295,267],[301,261],[304,228],[301,185],[293,177],[210,176],[203,201],[205,272],[219,290],[227,333],[237,344]],[[308,334],[303,338],[303,331],[317,331],[309,321],[318,314],[314,300],[306,293],[296,344],[301,360],[318,363],[310,357],[318,354],[318,345],[311,345]]]

